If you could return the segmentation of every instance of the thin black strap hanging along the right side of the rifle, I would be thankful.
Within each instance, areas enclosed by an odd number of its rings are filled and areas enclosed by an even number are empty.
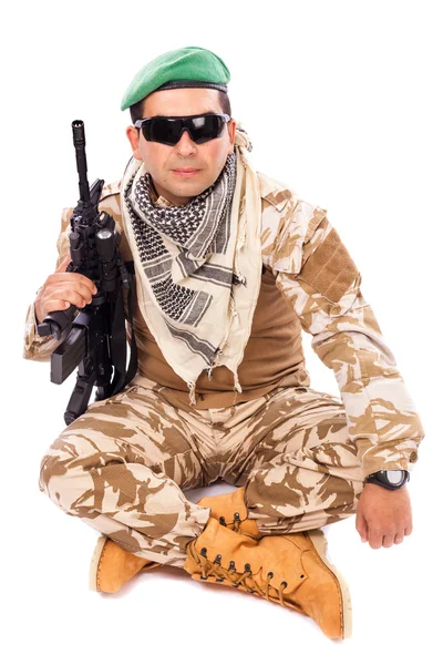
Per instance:
[[[126,267],[130,267],[126,264]],[[128,304],[128,321],[131,328],[131,358],[130,365],[126,371],[126,318],[124,310],[124,298],[123,287],[119,290],[117,300],[114,309],[114,320],[112,321],[112,335],[111,335],[111,360],[114,365],[114,377],[110,388],[110,396],[121,392],[123,388],[132,381],[137,369],[137,345],[135,342],[135,335],[133,328],[134,317],[134,305],[133,299],[135,297],[135,276],[131,268],[128,272],[130,289],[127,295]]]

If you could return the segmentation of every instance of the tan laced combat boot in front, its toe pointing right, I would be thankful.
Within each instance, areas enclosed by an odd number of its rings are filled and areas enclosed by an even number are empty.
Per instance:
[[[313,618],[328,637],[344,640],[352,630],[349,591],[324,551],[319,529],[255,541],[209,518],[186,546],[184,570],[194,580],[280,603]]]

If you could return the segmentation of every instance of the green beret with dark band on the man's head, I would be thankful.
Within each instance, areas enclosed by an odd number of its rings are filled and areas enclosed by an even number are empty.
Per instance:
[[[167,51],[137,72],[123,95],[125,111],[155,90],[215,88],[227,92],[230,73],[218,55],[198,47]]]

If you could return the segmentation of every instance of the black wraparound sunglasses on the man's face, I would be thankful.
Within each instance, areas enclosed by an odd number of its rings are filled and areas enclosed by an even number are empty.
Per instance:
[[[223,132],[225,122],[229,120],[230,117],[226,113],[204,113],[183,117],[155,115],[137,120],[134,125],[137,130],[142,130],[146,141],[175,145],[185,130],[189,132],[194,143],[206,143],[217,139]]]

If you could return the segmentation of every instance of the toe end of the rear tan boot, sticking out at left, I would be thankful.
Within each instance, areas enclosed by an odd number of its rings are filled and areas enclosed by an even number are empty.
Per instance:
[[[161,563],[126,552],[106,535],[95,545],[90,566],[90,590],[115,593],[142,569],[153,569]]]

